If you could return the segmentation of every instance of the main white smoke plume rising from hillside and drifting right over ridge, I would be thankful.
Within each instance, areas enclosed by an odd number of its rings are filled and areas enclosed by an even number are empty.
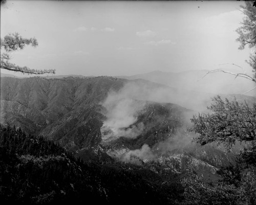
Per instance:
[[[103,113],[106,120],[101,127],[102,141],[110,142],[121,136],[137,138],[147,126],[143,122],[137,122],[138,116],[144,111],[146,101],[186,104],[188,102],[186,98],[189,96],[178,96],[178,93],[170,87],[148,81],[132,81],[117,92],[109,92],[102,102],[102,106],[106,109]],[[192,99],[195,97],[189,99],[190,103]]]

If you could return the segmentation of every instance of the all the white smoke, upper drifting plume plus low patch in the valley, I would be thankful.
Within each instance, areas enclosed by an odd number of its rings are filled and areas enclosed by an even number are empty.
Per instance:
[[[211,97],[211,94],[186,92],[143,80],[126,83],[118,92],[110,92],[102,103],[106,108],[104,113],[106,120],[101,127],[102,141],[110,142],[120,136],[135,139],[148,130],[149,122],[138,123],[138,117],[145,111],[145,105],[148,103],[146,101],[175,103],[185,108],[203,111],[211,103]],[[184,126],[187,126],[193,115],[197,113],[193,110],[183,113],[183,120],[186,121]],[[168,116],[163,118],[168,118]],[[159,120],[162,121],[163,118]],[[158,120],[157,116],[154,116],[154,120],[153,125]],[[195,146],[192,141],[193,137],[195,137],[195,133],[188,132],[186,127],[182,127],[168,139],[154,145],[153,148],[144,144],[140,149],[127,149],[124,153],[115,153],[115,157],[122,162],[132,162],[135,158],[142,161],[157,160],[158,157],[166,154],[183,153],[183,151],[190,150]]]

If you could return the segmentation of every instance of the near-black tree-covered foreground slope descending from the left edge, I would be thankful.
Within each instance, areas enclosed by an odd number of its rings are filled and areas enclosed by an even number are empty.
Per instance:
[[[160,186],[161,177],[150,170],[83,164],[53,142],[21,129],[1,126],[0,133],[2,204],[173,204],[182,199],[181,186]]]

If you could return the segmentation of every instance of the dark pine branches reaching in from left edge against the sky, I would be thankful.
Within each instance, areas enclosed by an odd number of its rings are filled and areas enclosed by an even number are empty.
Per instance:
[[[25,45],[32,45],[32,47],[37,47],[38,42],[35,38],[23,38],[18,33],[13,33],[6,35],[4,39],[1,38],[1,50],[4,49],[5,52],[1,52],[1,69],[6,69],[8,71],[21,72],[27,74],[45,74],[52,73],[55,74],[55,70],[35,70],[29,69],[27,66],[19,66],[14,63],[9,62],[11,60],[10,52],[22,50]]]

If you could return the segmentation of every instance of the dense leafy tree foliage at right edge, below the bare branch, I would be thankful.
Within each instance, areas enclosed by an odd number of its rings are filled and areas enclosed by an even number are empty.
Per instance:
[[[205,145],[216,141],[230,148],[236,141],[256,140],[256,104],[249,107],[236,100],[223,101],[220,96],[213,101],[208,107],[211,113],[199,113],[191,119],[194,124],[190,130],[200,134],[196,142]]]

